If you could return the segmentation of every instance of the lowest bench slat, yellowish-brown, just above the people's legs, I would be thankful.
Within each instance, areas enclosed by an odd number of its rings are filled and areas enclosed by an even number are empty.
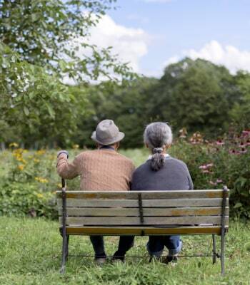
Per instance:
[[[228,227],[226,226],[226,229]],[[196,227],[176,227],[176,228],[160,228],[160,227],[66,227],[66,234],[75,235],[144,235],[156,234],[220,234],[221,227],[219,226],[196,226]]]

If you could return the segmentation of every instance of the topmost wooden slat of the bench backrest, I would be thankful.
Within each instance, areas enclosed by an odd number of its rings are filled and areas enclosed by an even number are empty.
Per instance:
[[[174,198],[222,198],[222,190],[178,190],[178,191],[69,191],[66,198],[71,199],[137,199],[141,194],[142,199],[174,199]],[[56,192],[61,197],[61,191]],[[228,197],[229,192],[226,192]]]

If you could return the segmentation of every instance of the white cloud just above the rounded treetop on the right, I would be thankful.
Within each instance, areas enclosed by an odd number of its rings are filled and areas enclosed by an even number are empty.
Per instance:
[[[180,56],[169,58],[164,66],[176,63],[181,58],[203,58],[212,63],[224,65],[231,73],[236,73],[239,69],[250,71],[250,51],[240,51],[234,46],[222,46],[218,41],[206,43],[200,50],[190,49],[183,51]]]

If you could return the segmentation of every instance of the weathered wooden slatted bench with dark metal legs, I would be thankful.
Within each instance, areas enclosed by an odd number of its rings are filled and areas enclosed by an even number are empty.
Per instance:
[[[64,184],[64,181],[63,181]],[[211,234],[213,263],[224,274],[225,233],[229,227],[229,190],[56,192],[63,237],[61,273],[69,256],[69,235]],[[221,236],[216,252],[215,235]],[[208,255],[206,255],[208,256]]]

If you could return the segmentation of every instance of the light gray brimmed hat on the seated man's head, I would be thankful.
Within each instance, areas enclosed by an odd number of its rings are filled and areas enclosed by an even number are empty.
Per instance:
[[[91,139],[101,145],[113,145],[124,138],[124,133],[119,132],[119,128],[113,120],[102,120],[92,133]]]

